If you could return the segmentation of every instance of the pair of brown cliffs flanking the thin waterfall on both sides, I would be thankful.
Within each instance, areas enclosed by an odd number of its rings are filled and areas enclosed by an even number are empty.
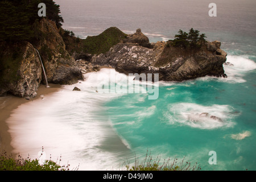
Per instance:
[[[33,45],[28,42],[0,45],[0,96],[7,93],[27,99],[36,96],[40,82],[45,80],[36,49],[42,57],[48,82],[74,84],[83,79],[75,59],[65,50],[65,43],[56,24],[42,19],[38,28],[42,37]]]

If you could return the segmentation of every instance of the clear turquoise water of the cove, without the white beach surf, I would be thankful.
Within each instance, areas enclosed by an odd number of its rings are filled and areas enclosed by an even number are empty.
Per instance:
[[[246,75],[250,77],[253,73]],[[106,104],[118,134],[136,153],[151,151],[198,162],[205,170],[255,169],[255,85],[253,80],[229,83],[220,78],[197,79],[159,87],[159,98],[126,95]],[[168,85],[168,84],[167,84]],[[222,118],[216,122],[196,114]],[[189,117],[201,119],[193,123]],[[245,133],[243,139],[233,134]],[[216,151],[217,165],[208,163]]]

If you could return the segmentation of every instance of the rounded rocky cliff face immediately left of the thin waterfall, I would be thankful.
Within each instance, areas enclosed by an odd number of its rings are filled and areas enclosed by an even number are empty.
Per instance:
[[[19,49],[19,51],[16,52],[15,49]],[[2,51],[5,53],[1,58],[6,59],[9,63],[2,62],[2,65],[7,68],[2,72],[4,75],[1,75],[0,96],[10,93],[24,98],[35,97],[42,80],[42,65],[36,49],[28,42],[20,42],[13,46],[7,46]],[[8,57],[16,58],[10,60]]]

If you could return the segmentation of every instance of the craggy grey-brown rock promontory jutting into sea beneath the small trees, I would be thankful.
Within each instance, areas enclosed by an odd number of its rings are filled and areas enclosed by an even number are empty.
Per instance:
[[[150,44],[137,30],[107,53],[93,56],[92,63],[110,65],[126,75],[159,73],[159,80],[164,81],[183,81],[207,75],[226,77],[222,66],[226,52],[220,46],[221,43],[215,41],[205,43],[200,49],[185,50],[167,42]]]

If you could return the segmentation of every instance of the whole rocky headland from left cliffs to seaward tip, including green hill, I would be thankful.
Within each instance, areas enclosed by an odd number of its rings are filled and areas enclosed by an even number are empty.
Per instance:
[[[150,43],[140,29],[126,35],[110,27],[98,36],[79,39],[49,19],[38,22],[40,39],[14,44],[0,42],[0,96],[34,98],[40,84],[75,84],[83,73],[110,66],[120,73],[159,73],[159,80],[183,81],[203,76],[226,77],[226,52],[218,41],[200,48],[174,47],[170,42]]]

